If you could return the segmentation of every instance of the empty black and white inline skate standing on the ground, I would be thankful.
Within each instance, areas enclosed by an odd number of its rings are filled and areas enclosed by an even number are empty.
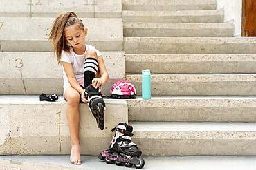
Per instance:
[[[107,164],[115,163],[116,165],[125,164],[126,167],[142,169],[145,161],[140,158],[142,152],[137,145],[131,142],[133,127],[126,123],[119,123],[117,127],[112,129],[115,135],[111,141],[109,149],[100,153],[98,158],[104,160]]]

